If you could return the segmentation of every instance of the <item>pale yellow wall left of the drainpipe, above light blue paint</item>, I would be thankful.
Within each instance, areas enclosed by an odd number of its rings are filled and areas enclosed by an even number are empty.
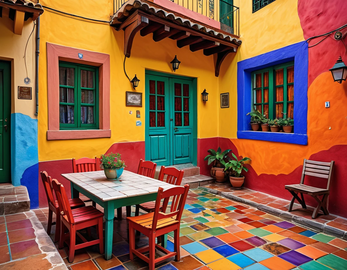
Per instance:
[[[2,9],[2,18],[0,18],[0,59],[12,61],[11,70],[11,113],[23,113],[35,118],[35,32],[29,38],[33,30],[33,20],[28,19],[24,22],[22,35],[13,33],[13,20],[8,17],[8,8]],[[29,38],[26,49],[26,67],[28,77],[31,79],[30,84],[24,83],[27,76],[24,63],[25,45]],[[18,86],[32,87],[32,100],[18,99]]]

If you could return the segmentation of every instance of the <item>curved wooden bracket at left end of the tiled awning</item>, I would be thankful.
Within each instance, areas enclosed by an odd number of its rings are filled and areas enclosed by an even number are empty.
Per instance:
[[[124,30],[124,55],[130,57],[131,48],[133,45],[135,34],[140,31],[143,27],[148,25],[148,18],[144,17],[137,12],[129,18],[126,23],[122,25]]]

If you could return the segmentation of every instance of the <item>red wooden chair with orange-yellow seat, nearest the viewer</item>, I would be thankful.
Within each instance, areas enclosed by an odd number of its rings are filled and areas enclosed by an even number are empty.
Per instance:
[[[127,217],[129,221],[130,260],[134,260],[134,254],[137,255],[140,259],[149,263],[149,270],[154,270],[155,263],[168,259],[171,256],[175,256],[176,261],[180,260],[179,227],[188,192],[188,184],[185,184],[184,187],[172,187],[166,191],[163,191],[163,188],[159,187],[154,212],[136,217]],[[173,196],[173,200],[170,212],[165,213],[171,196]],[[164,199],[164,201],[162,210],[160,211],[162,199]],[[140,231],[149,238],[148,246],[135,249],[135,230]],[[166,248],[155,244],[155,237],[167,234],[171,231],[174,231],[174,252],[170,252]],[[166,255],[155,258],[155,249],[160,250]],[[149,258],[142,254],[147,251],[149,251]]]

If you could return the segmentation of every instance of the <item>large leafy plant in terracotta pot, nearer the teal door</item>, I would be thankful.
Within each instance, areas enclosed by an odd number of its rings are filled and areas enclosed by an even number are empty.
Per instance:
[[[227,172],[224,170],[226,160],[229,160],[228,153],[231,149],[227,149],[222,152],[220,147],[218,147],[217,152],[213,149],[208,150],[209,155],[205,157],[204,160],[208,160],[208,165],[212,162],[213,166],[211,168],[211,176],[216,179],[216,182],[224,182],[227,179]]]

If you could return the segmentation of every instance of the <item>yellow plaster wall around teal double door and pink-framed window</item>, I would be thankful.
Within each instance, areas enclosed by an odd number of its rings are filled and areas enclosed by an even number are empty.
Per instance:
[[[113,13],[113,2],[104,1],[105,5],[95,1],[69,1],[69,5],[61,5],[61,1],[40,1],[42,5],[56,8],[76,15],[108,20]],[[58,4],[60,3],[60,4]],[[91,50],[110,54],[111,66],[111,138],[57,140],[47,141],[47,56],[46,42],[64,45],[83,50]],[[40,100],[39,100],[39,161],[94,157],[104,153],[113,143],[124,141],[144,141],[145,139],[145,106],[140,108],[141,118],[136,118],[136,107],[125,106],[125,92],[133,91],[123,71],[124,32],[117,32],[108,24],[86,22],[56,14],[45,10],[41,15],[41,53],[40,53]],[[177,48],[176,41],[164,39],[160,42],[152,40],[152,34],[145,37],[136,34],[132,54],[127,58],[125,66],[127,74],[132,78],[135,74],[141,80],[137,92],[145,91],[145,69],[157,70],[172,74],[170,61],[177,54],[181,61],[176,75],[197,77],[198,100],[198,137],[218,136],[218,78],[214,76],[213,56],[206,57],[202,51],[191,52],[189,47]],[[206,88],[210,93],[209,101],[203,104],[201,92]],[[129,110],[134,113],[129,115]],[[136,120],[142,126],[135,125]]]

